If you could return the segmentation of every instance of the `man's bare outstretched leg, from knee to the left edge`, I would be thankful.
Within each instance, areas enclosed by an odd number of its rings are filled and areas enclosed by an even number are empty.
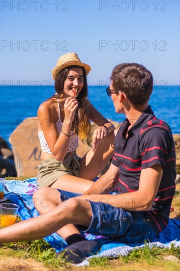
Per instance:
[[[89,227],[91,219],[90,202],[72,198],[45,214],[1,229],[0,243],[40,239],[57,232],[67,224]]]

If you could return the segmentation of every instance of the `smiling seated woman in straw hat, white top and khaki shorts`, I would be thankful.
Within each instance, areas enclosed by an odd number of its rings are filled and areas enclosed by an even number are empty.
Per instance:
[[[38,109],[42,149],[39,187],[83,193],[113,155],[115,127],[87,99],[86,77],[90,69],[77,54],[68,53],[59,58],[52,70],[56,94]],[[80,159],[76,154],[78,136],[89,134],[90,120],[98,128],[93,133],[92,148]]]

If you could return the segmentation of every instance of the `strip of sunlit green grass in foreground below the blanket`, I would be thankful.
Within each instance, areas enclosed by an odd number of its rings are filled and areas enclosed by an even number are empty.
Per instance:
[[[86,270],[146,270],[142,268],[142,265],[149,266],[149,270],[178,270],[179,264],[167,261],[165,258],[167,255],[174,255],[180,259],[180,247],[175,248],[172,245],[170,249],[155,246],[150,248],[146,244],[145,247],[134,249],[127,256],[119,256],[114,260],[109,260],[106,257],[92,258],[90,259],[90,267],[87,267]],[[80,270],[70,263],[66,263],[61,257],[56,258],[55,250],[44,239],[1,245],[0,258],[3,259],[4,256],[27,260],[31,258],[43,263],[50,270]]]

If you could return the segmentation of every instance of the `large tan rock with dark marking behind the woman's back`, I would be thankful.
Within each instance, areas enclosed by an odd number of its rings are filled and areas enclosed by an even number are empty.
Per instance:
[[[38,118],[30,117],[20,123],[9,137],[17,175],[34,176],[41,161],[38,138]]]

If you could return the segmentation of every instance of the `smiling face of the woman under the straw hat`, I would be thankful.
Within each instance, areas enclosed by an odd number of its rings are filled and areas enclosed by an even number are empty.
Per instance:
[[[83,69],[81,67],[70,68],[64,82],[63,93],[67,96],[78,97],[84,85]]]

